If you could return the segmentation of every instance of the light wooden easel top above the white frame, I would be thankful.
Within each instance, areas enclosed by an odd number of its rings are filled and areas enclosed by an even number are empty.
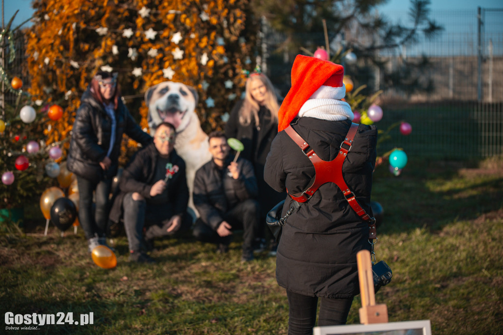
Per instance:
[[[376,305],[369,250],[358,252],[356,260],[358,263],[358,279],[360,281],[360,296],[362,299],[362,307],[359,309],[360,323],[386,323],[388,322],[388,308],[386,304]]]

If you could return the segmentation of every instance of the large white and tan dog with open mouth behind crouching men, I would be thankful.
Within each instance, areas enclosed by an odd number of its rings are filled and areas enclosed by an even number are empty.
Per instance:
[[[163,81],[145,92],[148,107],[148,127],[153,136],[162,122],[173,124],[177,130],[175,150],[187,165],[187,185],[190,191],[189,206],[196,212],[192,202],[194,176],[204,163],[211,159],[208,150],[208,135],[201,129],[196,114],[199,96],[197,91],[181,82]]]

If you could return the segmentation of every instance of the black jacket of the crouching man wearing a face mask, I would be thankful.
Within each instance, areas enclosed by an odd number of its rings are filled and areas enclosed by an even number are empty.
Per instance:
[[[123,213],[122,201],[126,193],[138,192],[145,199],[152,198],[150,189],[157,182],[155,180],[155,168],[158,157],[159,153],[155,148],[155,144],[151,143],[138,151],[131,159],[120,177],[119,189],[121,192],[115,198],[110,210],[109,218],[111,221],[120,221]],[[183,214],[187,210],[187,203],[189,202],[185,161],[177,154],[176,150],[173,150],[170,153],[170,162],[173,165],[178,165],[179,170],[172,178],[167,180],[167,194],[170,203],[173,205],[174,215]]]

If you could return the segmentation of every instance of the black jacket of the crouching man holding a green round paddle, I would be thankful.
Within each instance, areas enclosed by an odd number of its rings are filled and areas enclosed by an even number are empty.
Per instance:
[[[196,172],[194,178],[194,205],[204,223],[217,229],[223,216],[238,203],[258,196],[257,179],[253,165],[244,158],[237,159],[239,178],[227,175],[229,157],[220,169],[211,159]]]

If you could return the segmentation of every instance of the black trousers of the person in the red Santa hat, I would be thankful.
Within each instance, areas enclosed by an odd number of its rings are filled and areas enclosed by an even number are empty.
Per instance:
[[[318,297],[310,297],[286,291],[289,318],[288,334],[312,334],[316,322]],[[320,298],[318,326],[346,324],[353,298]]]

